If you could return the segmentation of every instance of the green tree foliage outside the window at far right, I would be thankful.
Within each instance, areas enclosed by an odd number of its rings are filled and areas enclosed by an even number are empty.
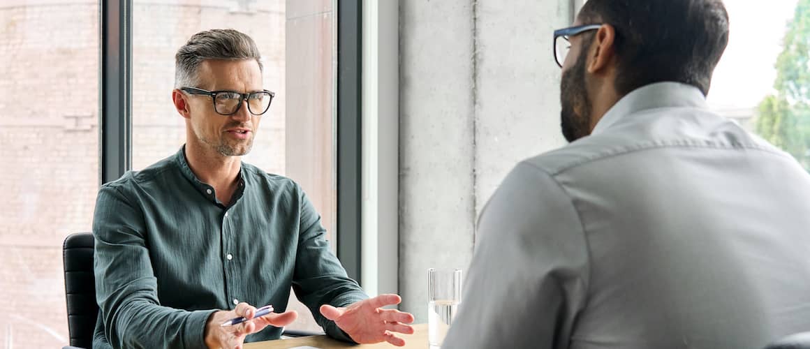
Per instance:
[[[757,134],[810,170],[810,0],[799,0],[776,61],[773,95],[757,110]]]

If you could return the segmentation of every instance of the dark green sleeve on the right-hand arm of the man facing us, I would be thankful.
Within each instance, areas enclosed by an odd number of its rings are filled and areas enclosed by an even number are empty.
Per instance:
[[[301,221],[292,289],[326,334],[332,338],[354,342],[335,325],[335,321],[323,317],[320,308],[322,304],[345,307],[369,296],[355,280],[346,275],[338,258],[329,250],[321,216],[303,191],[300,191],[299,199]]]

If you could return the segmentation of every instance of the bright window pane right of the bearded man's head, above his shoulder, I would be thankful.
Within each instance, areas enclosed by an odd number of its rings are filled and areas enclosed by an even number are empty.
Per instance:
[[[808,2],[769,2],[768,11],[747,0],[724,3],[731,34],[714,71],[710,105],[810,170]]]

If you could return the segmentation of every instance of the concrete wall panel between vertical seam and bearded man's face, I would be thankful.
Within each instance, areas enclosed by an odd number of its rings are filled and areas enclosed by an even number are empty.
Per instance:
[[[475,37],[475,210],[520,160],[561,147],[553,32],[568,0],[479,0]]]

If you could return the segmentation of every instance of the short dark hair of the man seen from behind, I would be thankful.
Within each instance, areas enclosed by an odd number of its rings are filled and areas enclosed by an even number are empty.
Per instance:
[[[728,44],[722,0],[588,0],[579,20],[616,28],[620,96],[664,81],[687,83],[706,95]]]

